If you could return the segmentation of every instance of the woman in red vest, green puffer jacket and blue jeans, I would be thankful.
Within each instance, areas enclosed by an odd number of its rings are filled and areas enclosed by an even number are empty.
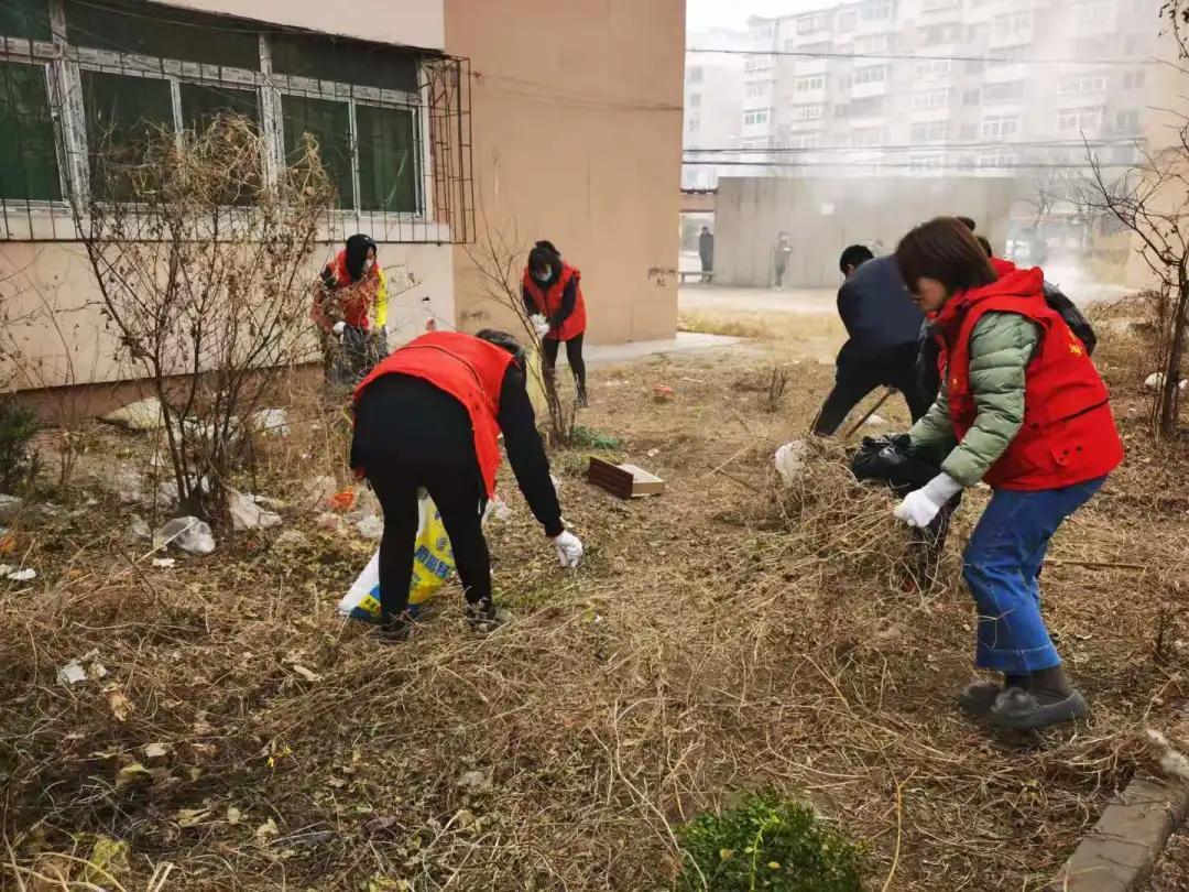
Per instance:
[[[895,516],[927,526],[950,498],[994,490],[963,559],[979,610],[975,664],[1004,680],[958,697],[1005,728],[1044,728],[1084,715],[1040,615],[1049,540],[1122,461],[1107,388],[1081,340],[1044,296],[1039,269],[1002,266],[954,218],[918,226],[897,247],[905,284],[944,341],[937,402],[911,432],[912,452],[944,459]]]

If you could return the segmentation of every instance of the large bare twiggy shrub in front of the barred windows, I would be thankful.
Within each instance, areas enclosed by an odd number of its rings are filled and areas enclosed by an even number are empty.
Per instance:
[[[317,356],[309,258],[333,188],[307,140],[277,170],[257,126],[109,142],[77,213],[118,359],[161,401],[183,509],[227,519],[251,415],[288,368]]]

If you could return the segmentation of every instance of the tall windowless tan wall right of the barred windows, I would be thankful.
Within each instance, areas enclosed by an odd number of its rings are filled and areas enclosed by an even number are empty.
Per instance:
[[[583,271],[590,339],[673,337],[684,0],[446,0],[472,64],[480,235],[552,240]],[[455,249],[460,325],[507,323]]]

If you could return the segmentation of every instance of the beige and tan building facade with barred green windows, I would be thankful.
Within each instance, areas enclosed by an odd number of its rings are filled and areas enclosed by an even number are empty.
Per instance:
[[[42,321],[13,337],[24,373],[0,368],[0,384],[127,373],[74,209],[97,188],[105,140],[134,146],[146,127],[181,133],[225,111],[259,125],[276,171],[316,139],[338,206],[309,281],[347,235],[372,235],[398,291],[394,344],[430,319],[499,316],[477,296],[480,222],[518,227],[524,250],[549,238],[583,269],[592,339],[672,337],[675,284],[655,271],[678,252],[685,4],[644,6],[4,0],[0,309]],[[61,308],[50,322],[32,312],[46,300]]]

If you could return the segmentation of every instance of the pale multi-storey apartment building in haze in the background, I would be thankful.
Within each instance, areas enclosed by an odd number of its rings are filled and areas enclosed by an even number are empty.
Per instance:
[[[1159,6],[849,0],[753,19],[738,158],[753,174],[1004,176],[1081,162],[1086,140],[1128,163]]]

